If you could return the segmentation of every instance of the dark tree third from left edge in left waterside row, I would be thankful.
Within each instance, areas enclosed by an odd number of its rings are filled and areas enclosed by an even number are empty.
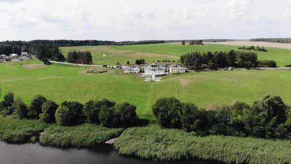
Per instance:
[[[46,98],[41,95],[37,95],[31,100],[27,114],[29,119],[39,119],[39,114],[42,113],[41,107],[45,101]]]

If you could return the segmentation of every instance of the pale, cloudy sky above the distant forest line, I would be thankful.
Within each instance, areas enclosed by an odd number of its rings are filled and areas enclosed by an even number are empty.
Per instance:
[[[0,0],[0,41],[291,38],[291,0]]]

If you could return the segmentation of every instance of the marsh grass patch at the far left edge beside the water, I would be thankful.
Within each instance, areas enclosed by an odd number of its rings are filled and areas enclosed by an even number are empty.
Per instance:
[[[0,140],[5,142],[29,142],[49,124],[36,120],[19,120],[14,116],[0,116]]]

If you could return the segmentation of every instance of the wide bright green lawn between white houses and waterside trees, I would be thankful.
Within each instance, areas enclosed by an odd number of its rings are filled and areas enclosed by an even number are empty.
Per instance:
[[[60,64],[27,68],[20,62],[0,63],[0,100],[8,91],[23,98],[26,103],[37,94],[58,104],[108,98],[134,104],[140,116],[151,114],[152,104],[158,98],[169,96],[206,109],[217,104],[230,104],[234,100],[252,104],[267,94],[280,95],[287,104],[291,104],[291,71],[186,73],[168,75],[155,83],[144,82],[144,78],[137,75],[116,74],[114,70],[96,75],[84,72],[85,68]]]

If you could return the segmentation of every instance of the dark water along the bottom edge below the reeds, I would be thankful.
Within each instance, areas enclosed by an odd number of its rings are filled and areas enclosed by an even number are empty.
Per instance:
[[[52,148],[39,144],[0,142],[0,164],[217,164],[198,160],[154,162],[118,154],[104,145],[94,149]]]

